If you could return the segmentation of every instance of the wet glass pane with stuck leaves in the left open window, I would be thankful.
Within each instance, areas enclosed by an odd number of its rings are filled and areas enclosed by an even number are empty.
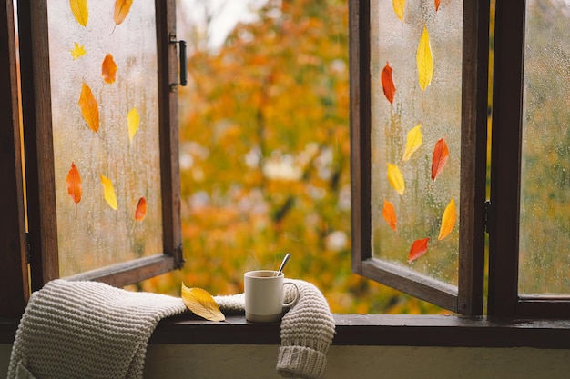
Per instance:
[[[47,3],[60,274],[161,253],[154,3]]]

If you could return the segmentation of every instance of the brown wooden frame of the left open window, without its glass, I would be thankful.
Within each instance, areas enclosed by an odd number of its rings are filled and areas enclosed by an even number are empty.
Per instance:
[[[163,251],[76,274],[70,279],[97,280],[123,286],[180,268],[183,264],[178,175],[176,9],[174,0],[154,3]],[[27,243],[30,286],[34,291],[59,277],[46,0],[18,1],[17,18],[25,141]]]

